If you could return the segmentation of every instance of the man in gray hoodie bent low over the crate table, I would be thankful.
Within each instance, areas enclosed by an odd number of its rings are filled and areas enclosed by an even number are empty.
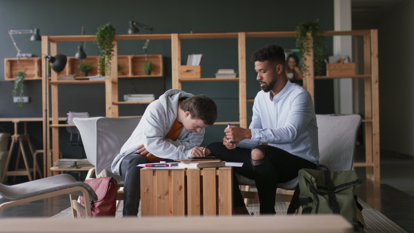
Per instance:
[[[137,216],[140,163],[170,162],[204,156],[204,128],[217,119],[217,106],[204,95],[168,90],[148,105],[132,135],[112,162],[112,172],[125,177],[124,216]]]

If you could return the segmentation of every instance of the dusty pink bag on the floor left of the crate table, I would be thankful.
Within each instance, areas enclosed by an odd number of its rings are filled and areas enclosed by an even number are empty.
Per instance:
[[[97,201],[89,200],[92,217],[96,216],[115,216],[117,208],[117,181],[112,177],[102,177],[88,179],[85,181],[98,196]],[[80,196],[81,205],[85,206],[85,198]],[[81,214],[78,217],[83,218]]]

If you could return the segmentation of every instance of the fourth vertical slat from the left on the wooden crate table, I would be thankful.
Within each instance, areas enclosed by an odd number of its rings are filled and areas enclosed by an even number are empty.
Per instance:
[[[200,204],[200,170],[188,168],[187,170],[187,214],[188,216],[199,216],[201,214]]]

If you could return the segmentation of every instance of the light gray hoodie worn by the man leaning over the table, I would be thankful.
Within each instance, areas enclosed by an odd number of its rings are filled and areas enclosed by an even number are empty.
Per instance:
[[[179,133],[177,140],[165,139],[172,123],[177,119],[178,101],[181,97],[193,97],[193,94],[182,90],[171,89],[152,101],[146,108],[141,121],[132,135],[122,146],[121,152],[112,162],[111,169],[119,174],[119,166],[127,154],[136,152],[138,146],[144,144],[148,152],[164,159],[187,159],[191,150],[201,145],[204,129],[201,132],[188,132],[185,128]]]

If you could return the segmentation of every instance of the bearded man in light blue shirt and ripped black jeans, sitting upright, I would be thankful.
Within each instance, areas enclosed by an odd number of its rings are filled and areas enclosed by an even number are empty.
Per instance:
[[[252,61],[262,91],[255,97],[250,127],[226,128],[223,143],[208,145],[206,154],[244,163],[235,172],[255,180],[260,213],[275,214],[277,183],[295,179],[302,168],[317,168],[316,116],[311,94],[286,77],[283,48],[266,45]],[[245,214],[237,179],[233,195],[235,214]]]

